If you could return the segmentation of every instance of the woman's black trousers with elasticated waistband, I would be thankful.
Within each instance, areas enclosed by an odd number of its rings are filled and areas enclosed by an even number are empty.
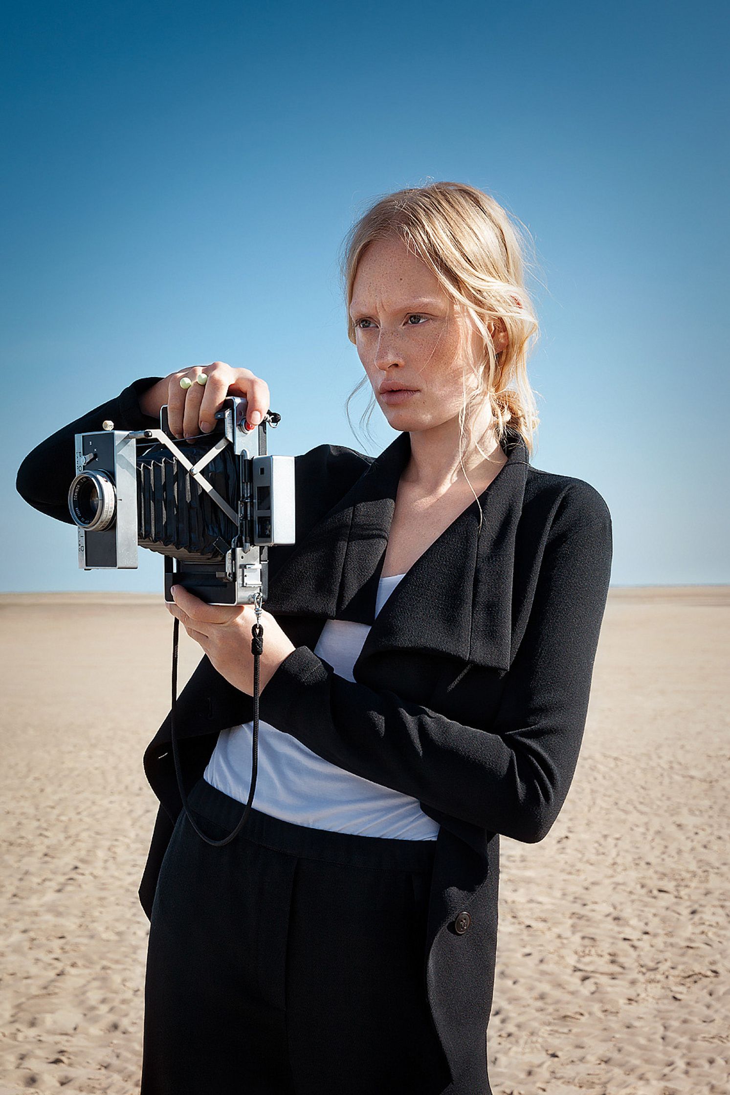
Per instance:
[[[212,839],[243,806],[200,780]],[[475,1095],[426,995],[436,841],[184,812],[152,908],[141,1095]]]

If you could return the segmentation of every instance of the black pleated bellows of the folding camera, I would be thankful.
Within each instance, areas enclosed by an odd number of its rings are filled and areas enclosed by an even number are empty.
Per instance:
[[[207,448],[185,447],[195,463]],[[230,447],[205,468],[205,477],[223,498],[239,496],[239,466]],[[221,560],[237,528],[164,445],[137,460],[139,544],[188,562]]]

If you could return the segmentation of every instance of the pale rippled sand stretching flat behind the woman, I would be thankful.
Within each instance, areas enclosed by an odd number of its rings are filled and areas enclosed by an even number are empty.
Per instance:
[[[0,1095],[139,1090],[171,630],[158,597],[0,597]],[[729,633],[730,587],[611,590],[563,811],[501,842],[495,1095],[730,1090]]]

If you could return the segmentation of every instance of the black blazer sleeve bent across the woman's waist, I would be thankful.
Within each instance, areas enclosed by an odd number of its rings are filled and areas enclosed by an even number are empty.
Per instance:
[[[472,725],[338,677],[305,646],[278,667],[262,718],[346,771],[526,843],[544,839],[578,761],[611,575],[602,496],[575,480],[555,511],[496,716]]]

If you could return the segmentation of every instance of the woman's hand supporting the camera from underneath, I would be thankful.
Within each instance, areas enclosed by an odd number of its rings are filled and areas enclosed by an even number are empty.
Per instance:
[[[254,656],[251,629],[256,623],[252,604],[206,604],[183,586],[173,587],[174,604],[167,604],[190,638],[199,643],[210,662],[234,688],[254,694]],[[268,612],[262,612],[264,653],[259,658],[259,692],[281,662],[296,649]]]

